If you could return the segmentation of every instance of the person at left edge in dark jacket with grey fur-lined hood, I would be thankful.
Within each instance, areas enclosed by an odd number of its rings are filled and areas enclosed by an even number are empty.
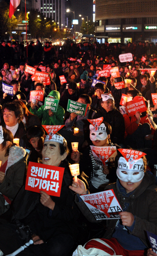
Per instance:
[[[22,187],[28,154],[13,143],[12,133],[0,126],[0,215],[5,213]]]

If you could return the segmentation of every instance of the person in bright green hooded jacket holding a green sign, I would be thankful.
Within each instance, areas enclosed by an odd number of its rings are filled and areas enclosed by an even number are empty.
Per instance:
[[[48,96],[60,100],[60,93],[57,90],[52,90]],[[29,111],[39,118],[42,118],[43,125],[62,125],[64,122],[64,109],[58,104],[57,111],[52,112],[51,109],[44,110],[44,105],[40,109],[36,109],[36,105],[31,102]]]

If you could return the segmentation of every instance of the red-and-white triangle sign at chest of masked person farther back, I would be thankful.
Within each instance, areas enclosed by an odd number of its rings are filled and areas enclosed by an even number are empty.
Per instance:
[[[100,166],[114,166],[115,157],[117,156],[116,146],[96,147],[90,146],[95,162]]]

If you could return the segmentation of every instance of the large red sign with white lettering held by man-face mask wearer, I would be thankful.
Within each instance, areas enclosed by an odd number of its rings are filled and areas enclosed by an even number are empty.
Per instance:
[[[50,196],[60,196],[64,168],[29,162],[26,190],[40,193],[46,192]]]

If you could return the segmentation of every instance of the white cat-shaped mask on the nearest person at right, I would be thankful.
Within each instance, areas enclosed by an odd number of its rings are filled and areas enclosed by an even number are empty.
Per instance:
[[[129,159],[127,162],[124,157],[118,160],[117,177],[124,182],[139,182],[144,177],[144,162],[140,158],[138,160]]]

